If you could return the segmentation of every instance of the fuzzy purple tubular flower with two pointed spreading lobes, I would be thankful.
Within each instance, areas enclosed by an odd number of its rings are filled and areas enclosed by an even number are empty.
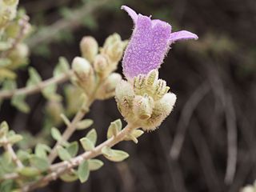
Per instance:
[[[128,6],[122,6],[134,21],[134,31],[122,60],[123,73],[126,78],[138,74],[148,74],[162,64],[170,44],[179,40],[198,39],[196,34],[182,30],[171,33],[167,22],[136,12]]]

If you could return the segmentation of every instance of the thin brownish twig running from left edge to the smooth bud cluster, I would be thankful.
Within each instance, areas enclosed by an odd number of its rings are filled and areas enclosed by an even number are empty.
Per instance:
[[[46,88],[46,86],[50,86],[51,84],[54,84],[54,83],[59,84],[62,82],[66,82],[72,74],[73,74],[73,71],[69,71],[66,74],[59,75],[58,77],[49,78],[46,81],[39,82],[38,85],[35,85],[35,86],[23,87],[18,90],[2,90],[0,92],[0,99],[11,98],[14,95],[18,95],[18,94],[29,95],[29,94],[38,93],[39,91]]]

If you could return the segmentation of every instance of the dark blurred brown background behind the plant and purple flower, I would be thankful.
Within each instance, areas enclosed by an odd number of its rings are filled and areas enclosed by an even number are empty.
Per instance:
[[[130,158],[108,162],[85,184],[52,182],[40,192],[218,192],[238,191],[256,178],[256,1],[255,0],[21,0],[30,22],[47,33],[29,39],[31,66],[50,78],[59,56],[69,61],[79,53],[83,35],[102,45],[114,32],[130,38],[133,23],[120,6],[170,22],[173,30],[198,34],[197,42],[178,42],[167,55],[160,77],[178,95],[174,111],[138,145],[124,142]],[[86,5],[86,10],[82,10]],[[70,23],[74,10],[87,14]],[[56,22],[66,21],[61,28]],[[55,26],[54,26],[55,25]],[[57,28],[56,28],[57,27]],[[60,28],[58,28],[60,27]],[[53,32],[53,29],[58,29]],[[60,30],[59,30],[60,29]],[[41,37],[45,39],[40,39]],[[121,65],[118,72],[122,72]],[[18,86],[27,72],[18,72]],[[4,102],[0,119],[17,131],[38,133],[45,99],[29,97],[30,114]],[[121,118],[114,99],[94,102],[93,118],[104,141],[111,121]],[[72,139],[81,138],[75,134]]]

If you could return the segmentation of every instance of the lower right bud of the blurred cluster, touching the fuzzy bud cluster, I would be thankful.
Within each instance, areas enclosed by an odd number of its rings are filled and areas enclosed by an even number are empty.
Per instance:
[[[103,82],[102,86],[98,88],[96,98],[103,100],[114,97],[115,88],[121,80],[122,76],[120,74],[110,74],[110,76],[106,78],[105,82]]]

